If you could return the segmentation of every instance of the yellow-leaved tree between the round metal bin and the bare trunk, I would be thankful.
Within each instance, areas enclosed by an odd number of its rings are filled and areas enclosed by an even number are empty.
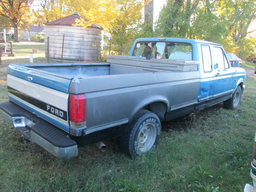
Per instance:
[[[115,50],[119,54],[127,53],[125,45],[142,30],[142,7],[140,0],[101,0],[99,7],[82,12],[89,21],[81,19],[76,25],[86,28],[92,23],[99,24],[111,34]]]

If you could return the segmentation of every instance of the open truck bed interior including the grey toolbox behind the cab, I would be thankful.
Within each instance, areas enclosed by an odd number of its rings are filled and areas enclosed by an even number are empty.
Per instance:
[[[196,71],[198,62],[134,58],[129,56],[108,56],[108,62],[100,63],[69,63],[69,64],[23,64],[32,68],[66,78],[84,78],[117,74],[134,74],[166,71]]]

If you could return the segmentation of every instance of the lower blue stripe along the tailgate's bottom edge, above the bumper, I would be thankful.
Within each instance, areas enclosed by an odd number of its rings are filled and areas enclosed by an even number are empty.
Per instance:
[[[42,114],[41,112],[38,112],[37,110],[31,108],[30,106],[27,106],[26,104],[20,102],[19,100],[17,100],[16,98],[12,97],[12,96],[9,96],[9,100],[22,106],[23,108],[25,108],[26,110],[32,112],[33,114],[36,114],[37,116],[40,116],[41,118],[43,118],[44,120],[50,122],[51,124],[54,124],[55,126],[61,128],[62,130],[64,130],[65,132],[68,132],[69,133],[69,126],[68,125],[65,125],[53,118],[50,118],[49,116],[45,115],[45,114]]]

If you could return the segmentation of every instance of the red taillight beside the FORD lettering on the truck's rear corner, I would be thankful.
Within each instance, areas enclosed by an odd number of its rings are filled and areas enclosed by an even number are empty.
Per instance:
[[[80,128],[86,122],[86,100],[85,95],[69,95],[69,122],[70,126]]]

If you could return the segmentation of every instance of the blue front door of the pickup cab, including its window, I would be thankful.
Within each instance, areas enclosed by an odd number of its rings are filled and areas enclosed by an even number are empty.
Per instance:
[[[229,62],[226,59],[221,46],[213,47],[213,60],[214,72],[216,76],[213,98],[218,98],[230,93],[234,71],[232,68],[230,68]]]

